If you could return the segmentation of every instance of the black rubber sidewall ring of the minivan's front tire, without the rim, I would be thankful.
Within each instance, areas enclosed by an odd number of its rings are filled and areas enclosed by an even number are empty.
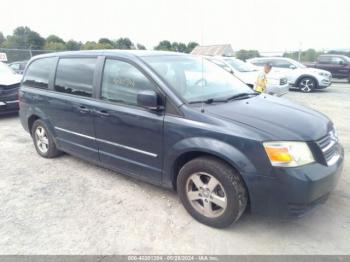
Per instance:
[[[186,194],[186,182],[190,175],[196,172],[206,172],[219,180],[224,187],[227,197],[225,212],[216,218],[208,218],[198,213],[191,205]],[[198,158],[188,162],[179,172],[177,190],[185,209],[199,222],[223,228],[235,222],[240,214],[238,192],[233,186],[233,179],[237,179],[237,173],[226,163],[212,158]]]

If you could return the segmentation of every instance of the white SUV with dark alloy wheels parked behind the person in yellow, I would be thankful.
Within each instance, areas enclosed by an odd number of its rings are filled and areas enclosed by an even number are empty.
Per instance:
[[[248,59],[249,63],[263,67],[269,63],[272,72],[285,73],[288,82],[294,88],[303,92],[311,92],[314,89],[326,88],[332,84],[332,74],[326,70],[307,68],[303,64],[285,57],[259,57]]]

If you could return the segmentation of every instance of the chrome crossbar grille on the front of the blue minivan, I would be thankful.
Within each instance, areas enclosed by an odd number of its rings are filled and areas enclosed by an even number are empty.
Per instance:
[[[335,130],[330,131],[326,136],[319,139],[317,144],[323,153],[327,165],[331,166],[338,161],[340,154],[338,150],[338,137]]]

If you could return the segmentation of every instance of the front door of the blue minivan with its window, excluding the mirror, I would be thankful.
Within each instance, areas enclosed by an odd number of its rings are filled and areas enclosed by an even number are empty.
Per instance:
[[[164,114],[137,105],[140,90],[157,91],[136,66],[106,59],[101,102],[95,104],[95,132],[100,160],[106,165],[161,182]]]

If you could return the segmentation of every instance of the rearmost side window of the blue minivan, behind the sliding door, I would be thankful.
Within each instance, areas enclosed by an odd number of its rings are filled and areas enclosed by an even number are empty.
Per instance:
[[[56,65],[56,59],[56,57],[48,57],[33,61],[23,78],[23,85],[47,89],[50,75]]]

